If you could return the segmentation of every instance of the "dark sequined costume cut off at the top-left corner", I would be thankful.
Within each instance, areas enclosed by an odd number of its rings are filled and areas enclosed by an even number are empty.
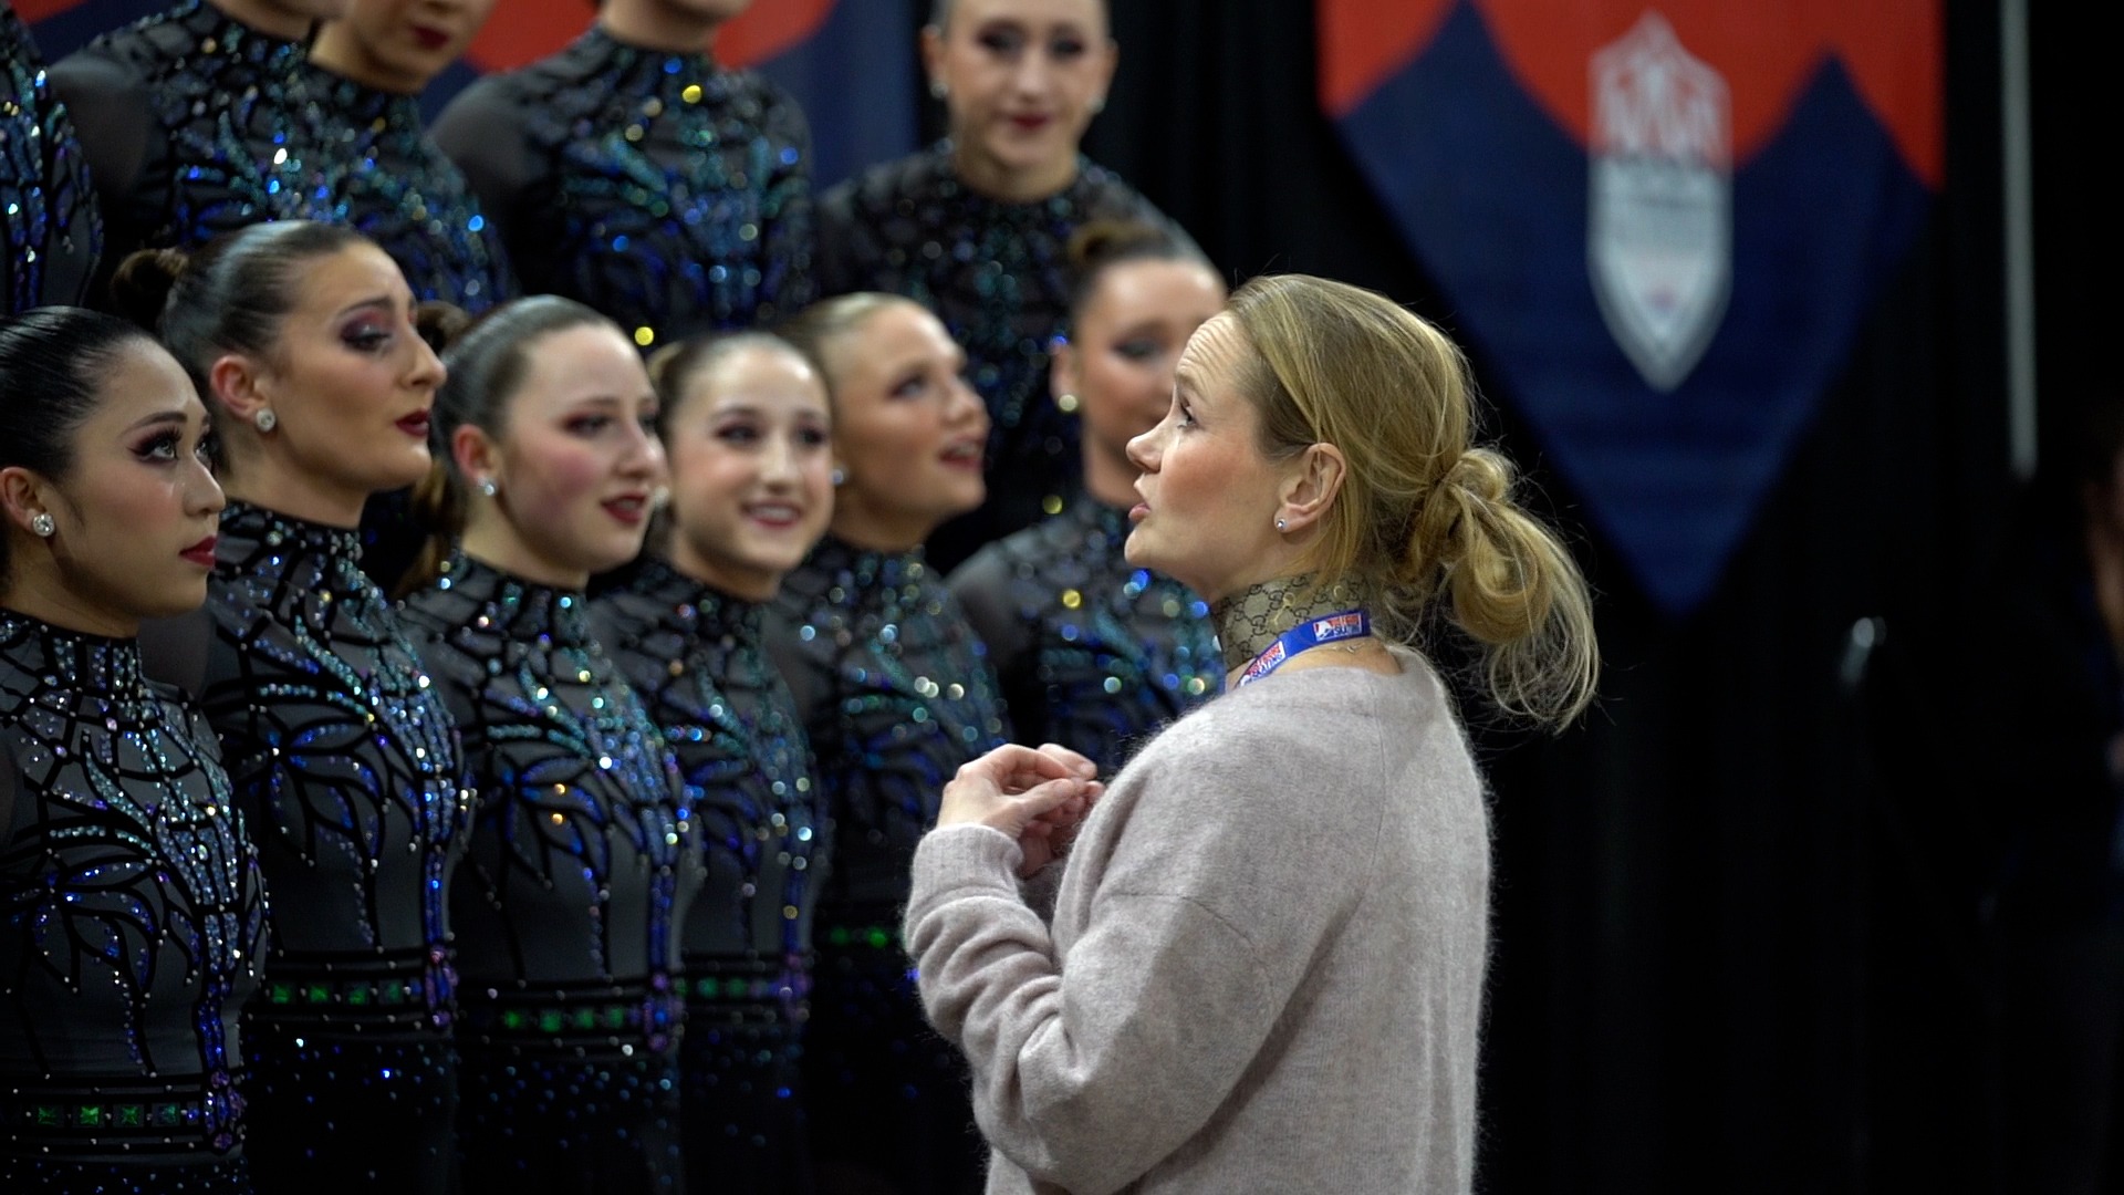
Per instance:
[[[81,302],[102,242],[74,121],[0,0],[0,315]]]

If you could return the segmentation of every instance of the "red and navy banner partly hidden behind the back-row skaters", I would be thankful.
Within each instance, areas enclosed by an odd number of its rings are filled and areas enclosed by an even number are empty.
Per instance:
[[[15,0],[38,51],[64,57],[89,38],[176,0]],[[915,149],[913,0],[758,0],[716,34],[716,57],[754,66],[790,89],[811,117],[813,181]],[[544,57],[588,28],[588,0],[499,0],[465,53],[423,98],[429,115],[465,83]]]

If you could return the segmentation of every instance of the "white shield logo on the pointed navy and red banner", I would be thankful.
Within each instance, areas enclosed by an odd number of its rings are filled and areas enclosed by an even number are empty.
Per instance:
[[[1733,106],[1659,13],[1593,53],[1587,264],[1608,334],[1682,385],[1733,287]]]

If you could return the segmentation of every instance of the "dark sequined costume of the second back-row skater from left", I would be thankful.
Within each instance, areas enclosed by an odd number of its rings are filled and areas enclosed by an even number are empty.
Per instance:
[[[187,0],[51,68],[104,215],[100,276],[134,249],[302,215],[302,66],[299,43]]]

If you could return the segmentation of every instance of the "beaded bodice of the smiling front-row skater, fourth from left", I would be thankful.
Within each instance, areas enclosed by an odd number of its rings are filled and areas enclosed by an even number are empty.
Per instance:
[[[593,621],[665,731],[701,823],[707,887],[686,919],[688,967],[801,957],[824,808],[796,702],[767,659],[767,608],[648,559],[597,600]]]

